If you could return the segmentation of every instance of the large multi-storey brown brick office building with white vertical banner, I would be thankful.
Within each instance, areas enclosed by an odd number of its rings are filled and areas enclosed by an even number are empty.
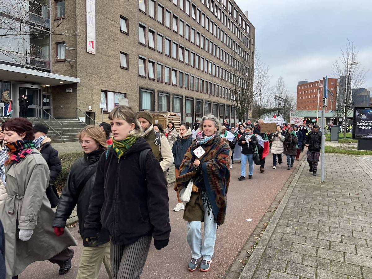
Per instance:
[[[101,121],[103,103],[107,121],[124,102],[180,113],[182,121],[209,112],[237,121],[228,81],[238,56],[247,54],[253,71],[255,28],[234,1],[32,2],[40,4],[32,10],[39,28],[51,35],[34,39],[36,59],[0,57],[2,90],[10,89],[15,114],[16,97],[26,93],[35,117]]]

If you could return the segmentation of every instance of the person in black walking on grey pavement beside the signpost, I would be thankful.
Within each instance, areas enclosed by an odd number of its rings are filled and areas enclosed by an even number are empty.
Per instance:
[[[319,126],[312,126],[311,132],[306,137],[307,151],[307,162],[309,164],[309,171],[312,175],[317,175],[318,162],[320,157],[320,148],[322,144],[322,133],[319,132]]]

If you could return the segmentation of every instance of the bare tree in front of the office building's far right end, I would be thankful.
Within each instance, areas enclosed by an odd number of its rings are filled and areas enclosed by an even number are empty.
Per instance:
[[[253,77],[257,63],[261,63],[259,55],[250,57],[247,47],[238,43],[232,55],[232,66],[225,81],[226,89],[230,92],[231,105],[235,107],[236,115],[240,121],[251,110],[254,96]],[[253,61],[254,60],[254,64]]]

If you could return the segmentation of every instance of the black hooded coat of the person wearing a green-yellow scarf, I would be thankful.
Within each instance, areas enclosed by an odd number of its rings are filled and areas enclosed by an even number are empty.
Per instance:
[[[150,149],[146,177],[139,162],[145,149]],[[120,160],[112,148],[107,158],[105,155],[98,163],[84,236],[94,237],[102,227],[117,245],[131,244],[147,235],[153,235],[155,241],[169,239],[167,180],[150,144],[140,137]]]

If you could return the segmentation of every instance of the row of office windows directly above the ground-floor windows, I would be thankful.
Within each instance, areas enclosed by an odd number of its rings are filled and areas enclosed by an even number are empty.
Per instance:
[[[222,85],[185,73],[177,68],[172,68],[160,62],[155,62],[146,57],[139,56],[138,75],[146,78],[146,74],[150,80],[155,80],[156,78],[156,80],[161,83],[164,82],[165,84],[190,89],[224,99],[231,98],[230,90]]]

